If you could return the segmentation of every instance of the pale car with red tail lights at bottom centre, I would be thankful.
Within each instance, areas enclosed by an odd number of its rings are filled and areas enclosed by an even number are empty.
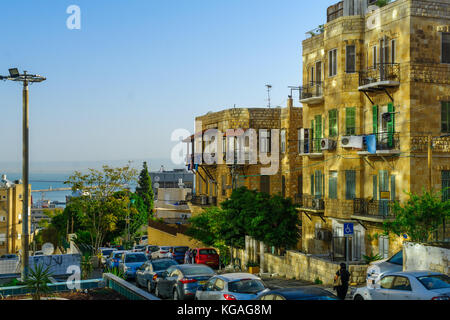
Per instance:
[[[228,273],[217,275],[200,286],[196,300],[253,300],[270,291],[264,282],[250,273]]]

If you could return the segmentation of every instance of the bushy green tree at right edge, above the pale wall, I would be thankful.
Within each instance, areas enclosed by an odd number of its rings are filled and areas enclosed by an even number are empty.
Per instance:
[[[384,229],[397,236],[407,234],[413,242],[427,242],[450,217],[450,200],[442,201],[442,192],[424,190],[422,195],[407,194],[409,199],[404,205],[398,202],[392,205],[395,220],[385,222]]]

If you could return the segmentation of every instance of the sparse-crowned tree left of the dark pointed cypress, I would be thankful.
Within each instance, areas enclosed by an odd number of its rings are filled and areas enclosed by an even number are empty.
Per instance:
[[[130,165],[122,168],[103,166],[103,170],[89,169],[88,174],[76,171],[65,182],[72,191],[79,192],[80,225],[88,231],[94,252],[104,243],[108,232],[117,228],[120,217],[128,212],[128,196],[116,194],[129,191],[135,180],[136,170]]]

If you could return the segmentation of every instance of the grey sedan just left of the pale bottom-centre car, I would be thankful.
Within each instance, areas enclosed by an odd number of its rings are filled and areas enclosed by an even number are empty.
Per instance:
[[[173,300],[194,299],[198,287],[215,275],[213,269],[201,264],[171,266],[156,279],[155,295]]]

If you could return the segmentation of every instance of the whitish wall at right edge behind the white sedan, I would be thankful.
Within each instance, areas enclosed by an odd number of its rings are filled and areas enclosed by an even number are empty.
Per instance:
[[[431,270],[450,274],[450,249],[413,242],[403,244],[403,271]]]

